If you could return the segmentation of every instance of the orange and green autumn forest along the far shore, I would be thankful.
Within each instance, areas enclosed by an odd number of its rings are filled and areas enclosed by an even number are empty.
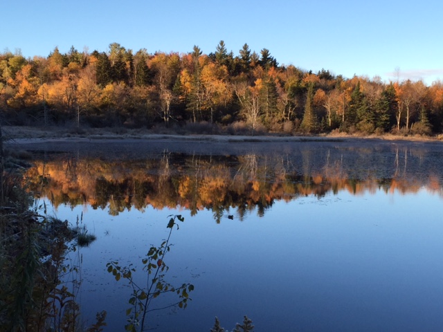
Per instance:
[[[0,53],[1,121],[10,125],[181,128],[199,133],[437,135],[443,82],[382,82],[279,65],[270,51],[134,53],[118,43],[48,57]]]

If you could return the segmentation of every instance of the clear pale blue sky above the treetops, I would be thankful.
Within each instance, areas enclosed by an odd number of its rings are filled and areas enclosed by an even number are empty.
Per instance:
[[[117,42],[208,54],[220,40],[268,48],[280,64],[383,81],[443,80],[443,1],[3,1],[0,51],[47,56],[57,46],[107,51]]]

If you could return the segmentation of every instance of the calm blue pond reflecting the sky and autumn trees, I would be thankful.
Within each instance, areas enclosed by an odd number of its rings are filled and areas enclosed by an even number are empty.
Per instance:
[[[18,148],[18,147],[17,147]],[[132,288],[107,272],[168,237],[171,284],[186,309],[148,315],[156,331],[209,331],[217,316],[255,331],[440,331],[443,147],[368,140],[124,140],[19,145],[34,151],[31,189],[48,214],[79,216],[84,320],[107,311],[123,331]],[[46,185],[39,187],[41,176]],[[153,299],[153,307],[172,299]]]

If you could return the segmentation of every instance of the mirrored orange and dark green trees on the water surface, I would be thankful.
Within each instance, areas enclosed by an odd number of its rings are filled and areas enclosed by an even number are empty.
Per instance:
[[[406,193],[428,187],[440,193],[440,163],[437,158],[434,163],[426,160],[423,151],[397,147],[375,153],[371,149],[320,149],[244,156],[163,151],[141,160],[77,156],[37,160],[26,176],[35,192],[40,189],[39,176],[48,176],[44,194],[55,206],[89,203],[93,208],[108,208],[113,215],[132,207],[143,210],[147,205],[181,207],[192,214],[209,209],[220,221],[231,208],[240,219],[253,210],[262,216],[278,200],[307,195],[320,198],[341,190]]]

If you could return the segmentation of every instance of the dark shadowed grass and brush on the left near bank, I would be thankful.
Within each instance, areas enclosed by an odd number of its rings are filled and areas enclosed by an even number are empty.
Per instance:
[[[106,312],[86,329],[75,300],[81,280],[66,282],[80,270],[67,258],[75,232],[46,215],[46,204],[27,192],[22,167],[5,170],[0,151],[0,331],[102,331]],[[39,178],[44,187],[48,178]]]

